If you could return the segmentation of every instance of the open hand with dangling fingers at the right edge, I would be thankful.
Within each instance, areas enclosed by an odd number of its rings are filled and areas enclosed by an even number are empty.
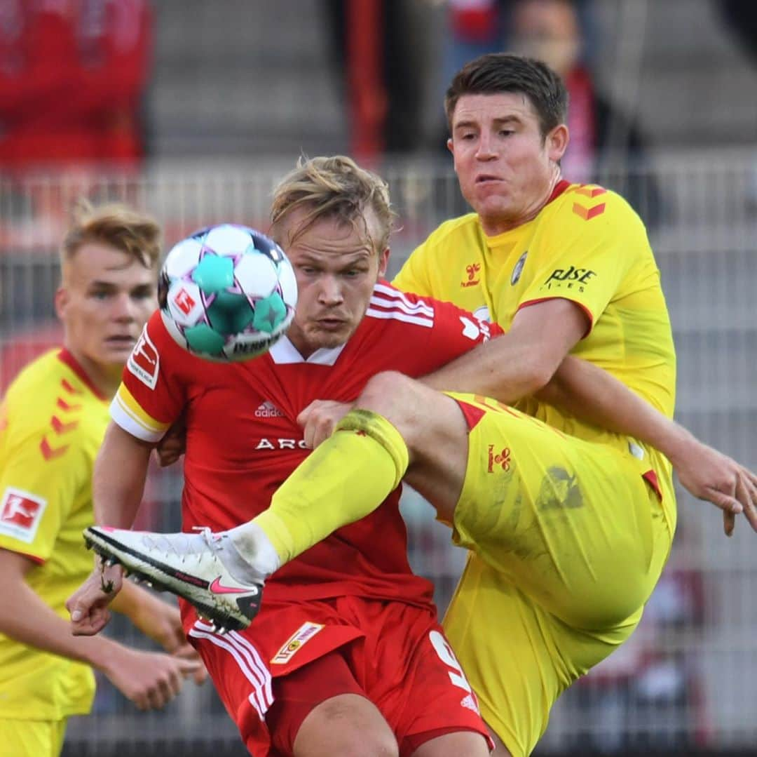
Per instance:
[[[726,536],[734,533],[736,516],[742,512],[757,531],[757,475],[693,436],[672,462],[681,486],[721,508]]]

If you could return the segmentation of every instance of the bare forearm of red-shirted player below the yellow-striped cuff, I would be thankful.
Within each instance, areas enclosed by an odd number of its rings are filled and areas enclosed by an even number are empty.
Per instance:
[[[145,491],[151,446],[112,423],[92,476],[95,523],[129,528]]]

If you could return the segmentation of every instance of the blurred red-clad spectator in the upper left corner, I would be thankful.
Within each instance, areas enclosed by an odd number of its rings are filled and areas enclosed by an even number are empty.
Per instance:
[[[148,0],[0,0],[0,169],[135,164]]]

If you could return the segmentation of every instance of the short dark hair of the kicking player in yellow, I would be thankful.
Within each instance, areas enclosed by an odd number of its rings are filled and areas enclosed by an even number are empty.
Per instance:
[[[520,92],[533,105],[542,138],[568,115],[565,83],[547,64],[507,52],[490,52],[466,63],[453,77],[444,110],[452,132],[452,116],[462,95],[498,95]]]

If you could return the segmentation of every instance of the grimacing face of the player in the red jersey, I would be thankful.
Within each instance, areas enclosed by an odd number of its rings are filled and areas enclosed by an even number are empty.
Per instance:
[[[366,221],[376,239],[372,211]],[[297,213],[285,224],[283,239],[296,229]],[[357,329],[368,309],[373,287],[386,272],[388,249],[375,252],[363,233],[336,218],[322,218],[286,249],[297,277],[298,299],[287,336],[307,358],[316,349],[338,347]]]

